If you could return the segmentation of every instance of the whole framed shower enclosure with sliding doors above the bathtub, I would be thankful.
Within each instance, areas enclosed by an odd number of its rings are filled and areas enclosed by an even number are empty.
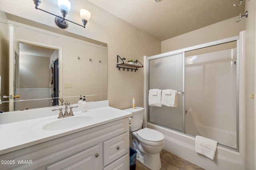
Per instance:
[[[146,102],[148,122],[239,151],[238,41],[230,37],[147,57],[146,92],[178,91],[178,107]]]

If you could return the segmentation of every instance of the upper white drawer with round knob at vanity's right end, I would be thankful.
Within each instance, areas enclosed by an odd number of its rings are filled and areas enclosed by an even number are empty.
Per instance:
[[[114,137],[103,143],[104,158],[103,166],[110,164],[117,158],[129,152],[129,133]]]

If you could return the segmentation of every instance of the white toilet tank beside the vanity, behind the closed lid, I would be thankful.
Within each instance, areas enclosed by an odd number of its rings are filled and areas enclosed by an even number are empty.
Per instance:
[[[130,132],[136,131],[142,128],[143,117],[144,117],[144,108],[143,107],[135,107],[124,109],[124,111],[128,111],[132,113],[132,125],[130,126]]]

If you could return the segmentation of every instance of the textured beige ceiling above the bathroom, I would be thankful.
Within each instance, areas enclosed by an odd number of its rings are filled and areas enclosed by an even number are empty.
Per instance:
[[[88,0],[135,27],[165,40],[244,14],[245,0]]]

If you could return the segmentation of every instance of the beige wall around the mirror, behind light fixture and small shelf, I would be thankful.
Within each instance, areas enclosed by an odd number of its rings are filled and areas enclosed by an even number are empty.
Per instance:
[[[66,31],[108,44],[108,100],[110,106],[119,109],[132,107],[132,98],[134,97],[136,105],[143,106],[143,69],[141,68],[137,72],[118,70],[116,56],[138,59],[143,63],[144,55],[151,56],[161,52],[161,42],[87,0],[70,0],[70,2],[71,4],[79,2],[81,7],[92,13],[92,16],[85,29],[70,23]],[[52,3],[55,2],[43,1],[40,7],[51,12],[58,12],[58,6]],[[35,10],[31,0],[1,1],[0,10],[57,27],[54,17]],[[70,11],[68,17],[73,16],[75,19],[77,18],[77,22],[80,22],[79,14],[74,15],[74,12]]]

